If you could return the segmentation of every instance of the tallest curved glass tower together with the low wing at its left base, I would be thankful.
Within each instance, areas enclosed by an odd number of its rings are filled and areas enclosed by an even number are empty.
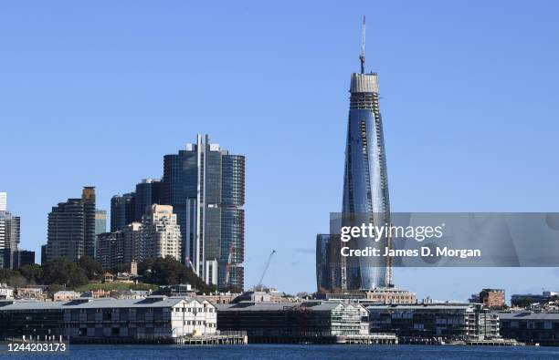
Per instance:
[[[335,235],[342,226],[391,225],[378,77],[376,73],[365,73],[364,40],[365,18],[359,56],[361,73],[353,73],[350,82],[342,213],[339,218],[331,214],[332,234],[318,235],[316,243],[317,287],[321,293],[366,291],[392,285],[390,259],[384,256],[342,256],[339,235]],[[353,249],[371,247],[384,253],[392,241],[383,233],[374,238],[353,239],[348,244]]]

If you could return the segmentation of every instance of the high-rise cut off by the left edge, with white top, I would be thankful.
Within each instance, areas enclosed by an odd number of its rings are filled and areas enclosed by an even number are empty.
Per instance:
[[[0,269],[17,268],[16,252],[20,242],[20,218],[7,211],[7,197],[0,192]]]

